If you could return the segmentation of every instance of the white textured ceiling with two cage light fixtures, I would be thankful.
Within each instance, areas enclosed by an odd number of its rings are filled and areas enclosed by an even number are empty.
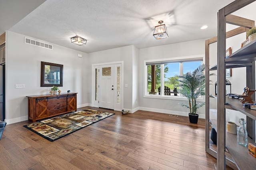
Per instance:
[[[22,1],[40,5],[44,0]],[[216,36],[217,12],[233,1],[46,0],[9,30],[85,53],[127,45],[141,49]],[[12,13],[20,18],[24,12]],[[154,39],[159,20],[166,23],[169,38]],[[208,28],[202,30],[202,25]],[[72,44],[70,38],[76,35],[87,44]]]

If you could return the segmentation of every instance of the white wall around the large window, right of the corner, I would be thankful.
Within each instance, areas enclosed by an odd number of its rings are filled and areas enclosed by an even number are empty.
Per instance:
[[[159,40],[161,41],[161,40]],[[188,116],[189,110],[180,106],[180,100],[166,100],[143,97],[143,62],[151,59],[166,59],[204,55],[205,39],[162,45],[139,50],[139,101],[140,109]],[[183,101],[184,102],[184,101]],[[204,107],[198,110],[199,117],[205,117]]]

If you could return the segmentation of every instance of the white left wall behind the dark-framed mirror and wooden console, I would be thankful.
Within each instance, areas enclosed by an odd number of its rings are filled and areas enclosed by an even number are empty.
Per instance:
[[[12,31],[7,31],[6,34],[7,123],[28,119],[26,96],[49,94],[50,87],[40,87],[41,61],[63,64],[63,87],[60,87],[60,90],[78,92],[78,107],[87,105],[88,88],[83,77],[88,67],[85,62],[88,54],[48,42],[46,43],[53,45],[53,50],[26,44],[24,37],[27,36]],[[77,57],[78,53],[82,54],[83,58]],[[15,88],[15,84],[25,84],[25,88]]]

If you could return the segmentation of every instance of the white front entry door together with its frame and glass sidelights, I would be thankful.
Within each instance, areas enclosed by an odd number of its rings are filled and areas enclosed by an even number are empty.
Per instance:
[[[92,65],[92,106],[122,110],[123,62]]]

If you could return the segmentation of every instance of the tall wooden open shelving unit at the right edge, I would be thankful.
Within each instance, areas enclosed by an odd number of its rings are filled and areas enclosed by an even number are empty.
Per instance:
[[[227,133],[226,131],[226,109],[234,109],[246,115],[248,143],[256,145],[255,141],[255,120],[256,110],[242,107],[239,99],[230,99],[225,97],[226,77],[223,72],[226,68],[246,67],[246,86],[255,89],[255,61],[256,61],[256,40],[250,42],[241,49],[235,51],[226,58],[226,38],[238,35],[254,27],[252,20],[231,15],[231,13],[249,5],[255,0],[235,0],[231,4],[220,9],[218,12],[218,36],[206,40],[206,82],[209,82],[209,72],[217,70],[217,97],[209,94],[209,83],[206,83],[206,152],[217,158],[217,169],[224,170],[226,164],[234,169],[248,170],[256,167],[256,158],[248,153],[248,146],[244,147],[237,142],[237,135]],[[240,27],[226,32],[226,23],[238,25]],[[247,37],[246,37],[247,38]],[[217,41],[218,40],[218,41]],[[209,68],[209,45],[217,42],[217,64]],[[217,100],[217,120],[209,119],[210,97]],[[254,100],[254,98],[252,98]],[[209,129],[212,124],[217,131],[217,148],[210,148]],[[226,155],[230,154],[231,158]]]

